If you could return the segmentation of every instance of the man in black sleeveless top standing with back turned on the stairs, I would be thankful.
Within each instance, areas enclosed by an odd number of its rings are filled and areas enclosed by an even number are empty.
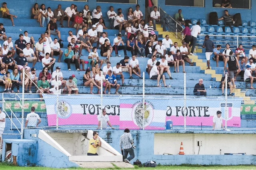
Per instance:
[[[230,56],[226,57],[225,59],[225,63],[224,63],[224,70],[227,69],[227,63],[228,63],[228,70],[229,70],[229,75],[230,75],[230,79],[232,81],[233,84],[233,88],[236,88],[235,85],[235,79],[234,79],[234,75],[236,73],[236,71],[241,71],[240,69],[240,65],[238,60],[236,59],[235,56],[233,56],[233,51],[230,51],[229,53]],[[238,68],[238,70],[237,70]]]

